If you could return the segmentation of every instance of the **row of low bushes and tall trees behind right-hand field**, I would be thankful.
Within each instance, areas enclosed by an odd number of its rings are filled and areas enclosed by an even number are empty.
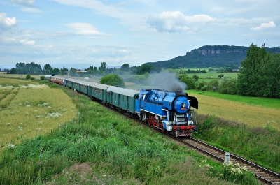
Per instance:
[[[265,45],[258,47],[252,43],[248,47],[246,59],[241,62],[237,78],[218,75],[220,80],[200,82],[195,75],[189,77],[183,70],[177,72],[177,77],[187,84],[188,89],[280,98],[280,54],[267,52]]]

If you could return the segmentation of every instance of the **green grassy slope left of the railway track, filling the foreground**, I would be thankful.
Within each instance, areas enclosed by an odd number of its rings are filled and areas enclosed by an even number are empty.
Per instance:
[[[0,156],[1,184],[258,184],[252,175],[206,161],[86,96],[65,92],[78,117],[7,146]]]

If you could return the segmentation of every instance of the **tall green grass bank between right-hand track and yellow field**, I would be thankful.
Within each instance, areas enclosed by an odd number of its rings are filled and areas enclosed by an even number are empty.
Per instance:
[[[280,172],[280,132],[269,124],[251,127],[205,115],[198,115],[197,120],[200,131],[196,138]]]

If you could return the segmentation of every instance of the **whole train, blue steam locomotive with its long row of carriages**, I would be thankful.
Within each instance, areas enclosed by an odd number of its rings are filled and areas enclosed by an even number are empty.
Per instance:
[[[130,117],[171,133],[174,137],[190,137],[197,131],[195,109],[198,101],[184,91],[164,89],[126,89],[108,84],[51,76],[50,81],[69,87],[90,98],[102,101]]]

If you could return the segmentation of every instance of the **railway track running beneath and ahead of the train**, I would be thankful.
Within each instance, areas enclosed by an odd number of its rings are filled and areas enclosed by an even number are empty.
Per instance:
[[[100,103],[100,104],[104,105],[103,103]],[[192,137],[175,138],[173,135],[162,132],[160,129],[154,128],[153,126],[148,126],[148,124],[143,123],[142,121],[139,121],[139,119],[135,119],[135,118],[131,117],[130,114],[125,114],[125,112],[123,112],[123,110],[118,110],[116,108],[111,108],[109,106],[106,106],[106,108],[120,112],[121,114],[125,115],[126,117],[129,117],[130,119],[134,119],[134,121],[137,121],[139,124],[141,124],[143,126],[153,128],[154,131],[162,133],[162,134],[166,135],[167,137],[171,138],[172,140],[176,140],[176,142],[180,142],[181,144],[186,145],[186,146],[190,147],[191,149],[195,149],[196,151],[199,151],[202,154],[210,156],[211,158],[214,158],[216,161],[218,161],[220,163],[225,163],[226,151],[223,151],[222,149],[218,149],[217,147],[213,147],[213,146],[207,144],[206,142],[202,142],[201,140],[197,140]],[[253,175],[255,175],[256,178],[258,178],[261,182],[263,182],[265,184],[280,185],[280,175],[277,174],[276,172],[272,172],[271,170],[262,168],[260,165],[252,163],[250,161],[246,161],[244,158],[241,158],[234,154],[230,154],[230,161],[234,164],[239,163],[239,165],[241,167],[246,166],[246,170],[248,172],[253,173]]]

